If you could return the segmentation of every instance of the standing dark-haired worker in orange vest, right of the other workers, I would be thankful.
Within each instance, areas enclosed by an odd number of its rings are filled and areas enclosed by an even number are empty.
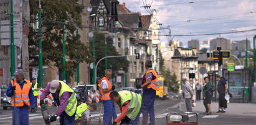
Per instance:
[[[158,74],[154,71],[152,66],[152,61],[146,61],[146,73],[143,76],[141,85],[136,85],[136,88],[143,88],[141,106],[141,113],[143,114],[142,124],[148,124],[149,114],[150,124],[154,125],[154,97],[156,97],[156,90],[159,90],[159,82]]]

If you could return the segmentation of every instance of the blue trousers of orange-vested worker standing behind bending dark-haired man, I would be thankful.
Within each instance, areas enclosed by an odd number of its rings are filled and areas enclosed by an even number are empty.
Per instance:
[[[110,125],[113,120],[116,119],[115,104],[111,100],[103,100],[104,113],[103,113],[103,124]]]

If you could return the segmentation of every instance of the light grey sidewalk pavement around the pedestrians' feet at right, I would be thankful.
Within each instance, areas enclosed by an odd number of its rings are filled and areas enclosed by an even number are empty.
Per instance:
[[[184,102],[182,102],[184,105]],[[204,112],[203,100],[197,101],[196,106],[192,107],[193,111]],[[219,110],[219,103],[211,103],[212,113],[216,113]],[[256,104],[255,103],[227,103],[227,109],[225,114],[244,114],[249,116],[256,116]]]

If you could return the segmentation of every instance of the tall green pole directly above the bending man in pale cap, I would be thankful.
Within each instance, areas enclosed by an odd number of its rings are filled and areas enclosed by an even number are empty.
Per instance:
[[[43,77],[42,77],[42,18],[41,18],[41,4],[39,1],[39,9],[38,9],[38,18],[39,18],[39,87],[43,87]]]

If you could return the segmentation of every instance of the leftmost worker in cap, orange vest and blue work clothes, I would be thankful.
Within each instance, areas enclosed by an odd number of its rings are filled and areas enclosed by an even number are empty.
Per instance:
[[[29,125],[29,106],[32,110],[35,108],[31,82],[24,79],[22,69],[16,69],[14,76],[6,91],[7,97],[11,97],[12,124]]]

